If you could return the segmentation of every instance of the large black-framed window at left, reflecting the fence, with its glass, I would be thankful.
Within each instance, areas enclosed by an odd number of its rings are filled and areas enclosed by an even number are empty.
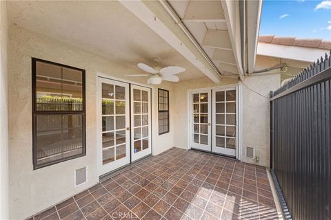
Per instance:
[[[85,70],[32,58],[34,169],[86,155]]]

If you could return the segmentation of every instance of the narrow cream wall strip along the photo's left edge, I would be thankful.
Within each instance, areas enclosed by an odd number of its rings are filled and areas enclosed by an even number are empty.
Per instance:
[[[0,2],[0,219],[9,217],[8,173],[8,24],[6,1]]]

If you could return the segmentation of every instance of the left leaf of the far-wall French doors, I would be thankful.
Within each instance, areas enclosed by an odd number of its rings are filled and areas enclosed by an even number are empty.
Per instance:
[[[191,147],[202,151],[211,150],[211,102],[210,89],[191,93]]]

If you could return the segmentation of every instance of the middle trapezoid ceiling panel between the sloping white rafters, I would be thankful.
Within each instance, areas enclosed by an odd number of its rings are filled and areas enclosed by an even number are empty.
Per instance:
[[[208,30],[203,39],[203,46],[232,50],[230,36],[226,30]]]

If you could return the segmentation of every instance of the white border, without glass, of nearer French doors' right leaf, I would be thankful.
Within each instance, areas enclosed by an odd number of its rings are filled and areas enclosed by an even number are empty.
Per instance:
[[[133,100],[133,89],[139,89],[142,91],[148,92],[148,148],[145,150],[141,150],[140,152],[134,153],[134,100]],[[146,157],[152,153],[152,113],[151,113],[151,96],[150,96],[151,89],[146,87],[141,87],[139,85],[131,85],[130,89],[130,96],[131,96],[131,160],[132,162],[136,161],[137,159],[141,159],[142,157]],[[142,111],[142,107],[141,107]],[[142,121],[141,121],[142,122]],[[142,146],[141,146],[142,148]]]

